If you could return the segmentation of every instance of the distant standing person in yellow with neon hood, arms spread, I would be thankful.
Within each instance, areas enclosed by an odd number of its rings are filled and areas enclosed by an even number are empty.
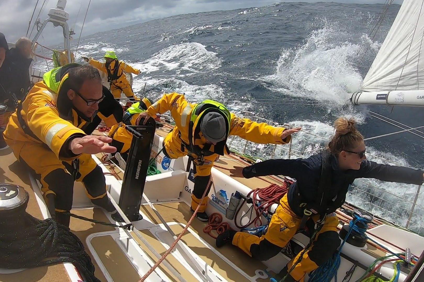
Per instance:
[[[108,82],[110,82],[110,91],[115,98],[121,98],[121,93],[123,92],[128,98],[135,100],[134,92],[124,71],[138,75],[140,73],[138,69],[128,66],[123,61],[118,60],[113,51],[106,51],[104,56],[106,60],[105,63],[93,60],[92,57],[82,58],[95,68],[107,74]]]

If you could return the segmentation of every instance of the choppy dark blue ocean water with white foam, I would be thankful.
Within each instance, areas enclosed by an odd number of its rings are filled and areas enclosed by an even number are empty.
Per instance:
[[[185,93],[187,99],[224,101],[234,112],[262,121],[302,126],[293,153],[307,157],[333,134],[339,116],[354,117],[365,137],[399,129],[371,112],[411,127],[421,126],[419,108],[348,104],[399,11],[391,5],[376,34],[380,4],[276,3],[232,11],[213,11],[157,19],[81,38],[77,59],[100,60],[112,49],[120,60],[139,68],[133,89],[145,82]],[[76,40],[73,41],[75,48]],[[160,90],[148,93],[155,100]],[[223,100],[225,98],[225,100]],[[273,99],[273,100],[261,100]],[[424,134],[421,134],[424,136]],[[423,139],[411,133],[366,142],[368,159],[423,168]],[[231,145],[262,158],[288,157],[273,146]],[[296,157],[295,156],[291,156]],[[305,176],[306,177],[306,176]],[[405,225],[417,186],[375,179],[355,181],[348,201]],[[424,196],[418,197],[410,229],[423,234]]]

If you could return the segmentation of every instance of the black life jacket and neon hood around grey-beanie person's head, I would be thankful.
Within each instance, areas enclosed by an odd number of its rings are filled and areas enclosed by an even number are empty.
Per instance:
[[[202,147],[196,144],[196,140],[199,140],[200,137],[200,127],[198,126],[199,122],[203,118],[203,116],[208,112],[219,112],[223,115],[226,120],[226,137],[224,140],[218,142],[216,145],[211,143],[206,143]],[[211,156],[213,154],[218,154],[223,156],[224,153],[229,152],[229,148],[227,147],[227,138],[230,133],[230,122],[231,122],[231,113],[230,111],[221,103],[218,103],[213,100],[205,100],[194,106],[190,118],[190,124],[188,128],[188,140],[189,144],[186,144],[184,141],[181,143],[181,151],[187,151],[189,153],[194,153],[197,155],[201,162],[203,162],[204,156]],[[179,136],[181,138],[181,132],[179,132]],[[213,149],[212,149],[213,146]]]

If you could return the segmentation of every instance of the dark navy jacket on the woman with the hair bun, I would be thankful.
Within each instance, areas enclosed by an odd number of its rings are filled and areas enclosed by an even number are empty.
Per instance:
[[[321,177],[322,154],[310,156],[307,159],[271,159],[253,164],[243,169],[245,178],[265,175],[285,175],[296,178],[290,186],[287,200],[290,208],[298,216],[303,215],[299,205],[307,203],[312,205],[318,194],[319,180]],[[340,170],[338,159],[335,155],[329,157],[331,165],[331,187],[327,191],[327,213],[334,212],[346,200],[349,185],[356,178],[376,178],[382,181],[400,182],[421,185],[423,172],[408,167],[397,167],[388,164],[377,164],[363,160],[359,170]]]

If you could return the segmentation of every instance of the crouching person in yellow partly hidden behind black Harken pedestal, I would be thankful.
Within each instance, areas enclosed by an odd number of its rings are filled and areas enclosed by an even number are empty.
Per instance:
[[[136,120],[140,113],[147,110],[153,104],[148,98],[143,98],[129,107],[125,113],[121,125],[114,125],[109,131],[109,137],[113,140],[111,146],[117,149],[116,153],[111,154],[117,160],[119,166],[125,170],[128,159],[128,151],[130,150],[132,134],[125,129],[126,125],[136,125]]]

